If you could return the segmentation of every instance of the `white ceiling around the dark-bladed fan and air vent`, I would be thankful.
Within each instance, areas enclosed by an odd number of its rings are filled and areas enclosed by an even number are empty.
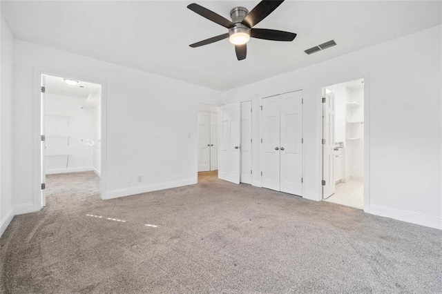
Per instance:
[[[216,90],[280,75],[441,23],[439,1],[285,1],[257,28],[296,32],[293,42],[251,39],[237,61],[227,32],[186,6],[189,1],[1,1],[18,39],[153,72]],[[198,1],[229,18],[256,1]],[[334,39],[338,46],[303,51]]]

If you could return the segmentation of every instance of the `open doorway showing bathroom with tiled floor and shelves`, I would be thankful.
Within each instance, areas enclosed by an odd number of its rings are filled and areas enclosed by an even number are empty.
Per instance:
[[[364,79],[323,88],[323,199],[364,207]]]

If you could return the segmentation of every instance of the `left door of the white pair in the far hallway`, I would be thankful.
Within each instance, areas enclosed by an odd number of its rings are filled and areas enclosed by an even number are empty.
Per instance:
[[[198,171],[210,170],[210,113],[198,111]]]

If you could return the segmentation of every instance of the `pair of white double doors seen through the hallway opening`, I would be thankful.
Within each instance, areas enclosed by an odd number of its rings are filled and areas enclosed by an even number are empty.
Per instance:
[[[198,171],[218,170],[218,114],[198,111]]]

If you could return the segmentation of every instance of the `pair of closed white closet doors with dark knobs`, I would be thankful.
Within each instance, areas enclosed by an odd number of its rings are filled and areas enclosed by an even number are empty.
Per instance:
[[[262,187],[302,195],[302,91],[262,99]]]

